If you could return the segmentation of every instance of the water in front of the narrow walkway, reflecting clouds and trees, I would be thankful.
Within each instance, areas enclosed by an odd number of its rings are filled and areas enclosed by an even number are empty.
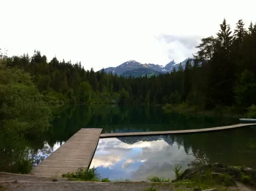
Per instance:
[[[150,175],[174,177],[174,164],[219,162],[256,168],[256,126],[162,136],[99,140],[91,165],[103,177],[146,180]]]

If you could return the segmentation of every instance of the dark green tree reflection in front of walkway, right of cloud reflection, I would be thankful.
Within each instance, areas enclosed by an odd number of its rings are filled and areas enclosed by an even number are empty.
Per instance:
[[[229,130],[179,134],[185,149],[191,145],[195,162],[220,162],[227,165],[247,165],[256,167],[255,127],[242,127]]]

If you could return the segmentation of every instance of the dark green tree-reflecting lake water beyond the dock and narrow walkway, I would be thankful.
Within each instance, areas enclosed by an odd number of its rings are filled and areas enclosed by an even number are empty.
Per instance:
[[[160,106],[77,105],[56,110],[46,133],[50,145],[67,140],[81,127],[101,127],[103,132],[156,131],[205,128],[235,123],[233,119],[164,113]]]

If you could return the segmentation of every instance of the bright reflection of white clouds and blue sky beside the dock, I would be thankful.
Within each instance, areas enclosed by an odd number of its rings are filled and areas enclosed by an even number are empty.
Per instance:
[[[129,137],[123,140],[132,142]],[[153,174],[173,178],[174,164],[177,163],[184,169],[194,160],[194,156],[187,155],[184,147],[181,145],[178,148],[176,142],[172,146],[164,139],[157,140],[157,138],[130,144],[125,142],[117,138],[100,139],[91,167],[98,167],[98,172],[110,179],[120,178],[121,174],[122,177],[133,180],[145,180]],[[118,176],[116,177],[115,174]]]

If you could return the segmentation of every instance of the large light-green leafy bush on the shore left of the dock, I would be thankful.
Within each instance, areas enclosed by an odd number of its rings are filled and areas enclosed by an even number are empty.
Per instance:
[[[51,107],[28,73],[0,60],[0,170],[28,173],[32,168],[29,142],[50,126]]]

